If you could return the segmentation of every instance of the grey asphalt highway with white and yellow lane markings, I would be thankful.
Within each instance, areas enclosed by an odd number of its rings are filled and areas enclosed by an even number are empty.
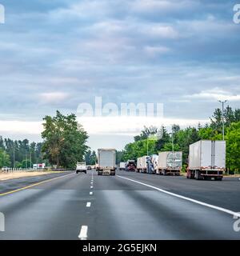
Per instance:
[[[239,193],[238,178],[195,181],[125,171],[10,180],[0,182],[6,218],[0,240],[240,239],[233,218]]]

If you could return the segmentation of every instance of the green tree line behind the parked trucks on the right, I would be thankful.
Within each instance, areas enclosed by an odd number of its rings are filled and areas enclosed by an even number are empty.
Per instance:
[[[128,159],[136,160],[143,155],[158,154],[160,151],[182,151],[183,169],[188,164],[189,146],[201,139],[222,140],[222,119],[225,124],[226,140],[226,168],[234,171],[240,170],[240,109],[233,110],[230,106],[222,113],[222,110],[214,110],[210,123],[205,126],[187,127],[181,129],[174,125],[172,133],[167,132],[166,127],[145,127],[142,133],[134,137],[134,142],[127,144],[124,150],[118,152],[122,162]],[[150,135],[161,134],[157,140],[150,139]]]

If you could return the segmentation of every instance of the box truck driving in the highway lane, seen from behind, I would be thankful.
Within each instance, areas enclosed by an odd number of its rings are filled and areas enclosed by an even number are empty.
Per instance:
[[[115,175],[116,171],[116,150],[98,149],[98,175]]]

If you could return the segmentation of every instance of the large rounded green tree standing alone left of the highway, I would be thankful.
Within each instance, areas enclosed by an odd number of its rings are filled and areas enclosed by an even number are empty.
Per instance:
[[[78,124],[74,114],[64,116],[57,111],[55,117],[46,116],[42,138],[42,153],[50,164],[73,168],[83,161],[88,146],[86,131]]]

